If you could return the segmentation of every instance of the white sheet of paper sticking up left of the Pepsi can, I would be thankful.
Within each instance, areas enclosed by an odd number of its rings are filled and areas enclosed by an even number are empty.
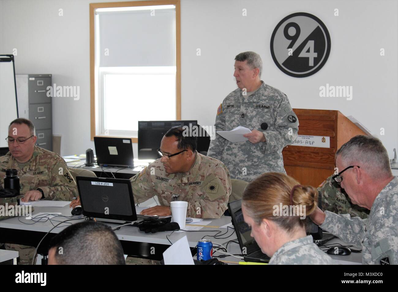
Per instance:
[[[186,236],[180,238],[163,253],[165,265],[195,265]]]

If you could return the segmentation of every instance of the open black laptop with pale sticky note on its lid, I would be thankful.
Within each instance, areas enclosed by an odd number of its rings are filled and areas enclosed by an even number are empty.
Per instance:
[[[94,137],[97,164],[134,167],[131,138]]]

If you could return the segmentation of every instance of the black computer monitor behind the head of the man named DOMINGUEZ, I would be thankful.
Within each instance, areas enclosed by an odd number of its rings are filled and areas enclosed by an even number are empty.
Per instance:
[[[158,159],[156,151],[164,134],[173,127],[199,126],[195,120],[185,121],[139,121],[138,122],[138,159]],[[191,127],[192,127],[191,126]],[[200,127],[200,126],[199,126]],[[203,129],[204,130],[204,129]],[[202,131],[203,131],[202,130]],[[206,132],[207,133],[207,132]],[[207,151],[210,144],[210,136],[201,135],[198,138],[197,151]]]

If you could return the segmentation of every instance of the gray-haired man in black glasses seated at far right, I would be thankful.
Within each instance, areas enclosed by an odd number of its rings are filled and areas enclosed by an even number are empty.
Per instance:
[[[336,167],[339,173],[333,179],[354,204],[370,210],[369,217],[317,208],[312,220],[341,240],[362,246],[363,264],[398,264],[398,178],[381,141],[364,135],[351,138],[336,152]]]

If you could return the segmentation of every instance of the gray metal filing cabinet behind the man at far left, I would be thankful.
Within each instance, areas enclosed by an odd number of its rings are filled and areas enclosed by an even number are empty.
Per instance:
[[[15,77],[19,117],[35,125],[36,145],[53,151],[51,94],[47,96],[47,86],[53,86],[51,74],[16,74]]]

